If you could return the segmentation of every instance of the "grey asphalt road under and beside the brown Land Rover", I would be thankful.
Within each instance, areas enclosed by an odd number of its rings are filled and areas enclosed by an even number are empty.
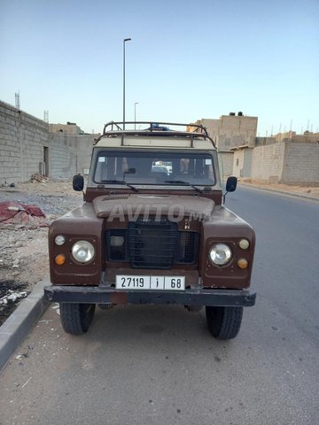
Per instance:
[[[235,340],[166,305],[98,310],[68,336],[50,307],[0,376],[0,424],[317,425],[319,203],[239,188],[227,205],[257,234]]]

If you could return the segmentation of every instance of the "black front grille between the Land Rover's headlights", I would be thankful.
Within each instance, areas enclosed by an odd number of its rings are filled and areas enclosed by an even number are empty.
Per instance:
[[[198,259],[199,235],[178,231],[169,220],[136,220],[128,228],[106,231],[109,261],[130,262],[133,268],[170,269],[174,264],[194,264]]]

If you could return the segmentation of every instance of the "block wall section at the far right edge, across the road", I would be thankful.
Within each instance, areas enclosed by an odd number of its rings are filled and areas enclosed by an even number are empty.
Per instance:
[[[319,182],[319,141],[286,143],[281,182],[287,184]]]

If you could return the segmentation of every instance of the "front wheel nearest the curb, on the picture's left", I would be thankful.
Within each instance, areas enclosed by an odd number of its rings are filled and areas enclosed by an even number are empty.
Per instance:
[[[62,327],[68,334],[85,334],[93,320],[94,312],[95,304],[60,303]]]

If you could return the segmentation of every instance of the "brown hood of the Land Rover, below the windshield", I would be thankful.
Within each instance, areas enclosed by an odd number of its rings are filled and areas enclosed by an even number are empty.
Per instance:
[[[150,215],[208,220],[214,210],[211,199],[183,195],[104,195],[96,197],[93,205],[97,217],[107,217],[108,220],[121,216],[136,220]]]

